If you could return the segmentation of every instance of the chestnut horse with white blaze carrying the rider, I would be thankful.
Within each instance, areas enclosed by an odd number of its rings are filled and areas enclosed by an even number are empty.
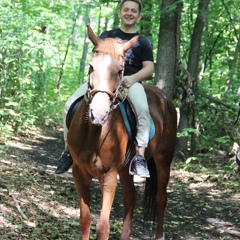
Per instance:
[[[88,26],[88,37],[94,45],[90,60],[88,90],[71,122],[68,146],[73,157],[72,174],[80,203],[82,240],[90,239],[90,184],[97,177],[101,188],[101,211],[96,226],[97,239],[109,238],[109,217],[117,186],[117,175],[123,189],[124,220],[120,239],[130,239],[136,191],[129,163],[123,165],[128,149],[126,131],[117,101],[124,71],[124,53],[138,41],[99,39]],[[167,184],[176,142],[176,111],[159,88],[144,85],[155,135],[149,141],[145,157],[150,178],[146,180],[145,196],[150,211],[155,211],[155,239],[164,239],[163,215],[167,202]],[[139,96],[141,97],[141,96]],[[132,153],[133,157],[135,152]],[[151,184],[150,184],[151,183]],[[153,189],[149,189],[149,188]],[[154,207],[155,206],[155,207]]]

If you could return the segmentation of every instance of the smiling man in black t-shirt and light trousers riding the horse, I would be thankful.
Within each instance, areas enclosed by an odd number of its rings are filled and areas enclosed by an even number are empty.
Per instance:
[[[105,31],[100,38],[120,38],[124,41],[130,40],[138,35],[136,32],[136,23],[141,19],[142,5],[138,0],[123,0],[120,3],[118,16],[121,20],[119,29]],[[134,48],[126,53],[126,62],[124,69],[123,85],[129,88],[128,99],[132,103],[137,115],[137,155],[133,159],[134,171],[140,177],[150,177],[147,169],[147,163],[144,158],[145,149],[149,141],[150,114],[148,109],[147,96],[141,81],[149,79],[154,71],[152,46],[147,38],[140,36]],[[83,84],[70,99],[66,102],[65,113],[67,113],[72,102],[80,96],[83,96],[87,90],[87,84]],[[67,139],[67,128],[65,126],[64,138]],[[64,151],[60,164],[55,171],[61,174],[72,165],[72,158],[67,150]]]

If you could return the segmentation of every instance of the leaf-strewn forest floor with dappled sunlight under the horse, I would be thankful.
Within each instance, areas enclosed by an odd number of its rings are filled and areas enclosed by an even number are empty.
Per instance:
[[[71,170],[54,174],[63,149],[61,130],[38,129],[12,137],[0,147],[0,239],[79,239],[78,199]],[[229,165],[234,166],[233,159],[213,154],[198,156],[188,164],[173,163],[165,214],[166,240],[240,239],[240,171]],[[136,181],[135,240],[149,239],[149,230],[142,226],[143,184]],[[93,181],[92,191],[96,223],[100,203],[97,181]],[[119,239],[122,208],[118,186],[110,240]],[[93,224],[91,239],[95,239],[94,229]]]

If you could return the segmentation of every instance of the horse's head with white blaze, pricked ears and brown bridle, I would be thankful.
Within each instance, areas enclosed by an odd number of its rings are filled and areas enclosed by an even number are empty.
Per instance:
[[[87,26],[87,31],[94,45],[87,90],[89,118],[94,125],[102,126],[109,113],[116,108],[124,73],[125,52],[135,46],[139,36],[124,42],[117,38],[100,39],[90,26]]]

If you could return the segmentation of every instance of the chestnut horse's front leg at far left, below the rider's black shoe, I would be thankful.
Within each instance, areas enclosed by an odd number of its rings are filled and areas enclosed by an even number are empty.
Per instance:
[[[79,206],[80,206],[80,217],[79,223],[82,233],[82,240],[90,239],[90,227],[91,227],[91,212],[90,212],[90,201],[91,201],[91,178],[89,176],[83,177],[77,165],[73,164],[72,175],[76,185]]]

